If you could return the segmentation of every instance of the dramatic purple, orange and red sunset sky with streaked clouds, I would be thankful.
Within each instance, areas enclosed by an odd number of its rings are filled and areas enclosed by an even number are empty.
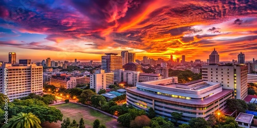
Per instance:
[[[170,55],[206,61],[257,59],[257,0],[2,0],[0,60],[100,61],[128,50],[137,59]]]

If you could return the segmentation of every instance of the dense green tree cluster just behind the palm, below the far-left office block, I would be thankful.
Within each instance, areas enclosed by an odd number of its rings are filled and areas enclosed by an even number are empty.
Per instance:
[[[0,96],[0,100],[3,99],[4,95]],[[41,122],[57,122],[58,120],[62,121],[63,114],[60,110],[49,107],[48,104],[52,103],[56,99],[53,98],[52,95],[43,95],[43,97],[35,94],[30,94],[29,96],[23,98],[23,100],[14,99],[12,102],[8,103],[8,118],[12,118],[12,116],[31,116],[32,113],[37,118],[40,119]],[[1,108],[3,108],[4,104],[1,101]],[[1,109],[0,113],[3,113],[3,109]],[[24,113],[20,114],[19,113]],[[26,115],[29,114],[29,115]],[[1,125],[3,125],[3,119],[0,120]]]

